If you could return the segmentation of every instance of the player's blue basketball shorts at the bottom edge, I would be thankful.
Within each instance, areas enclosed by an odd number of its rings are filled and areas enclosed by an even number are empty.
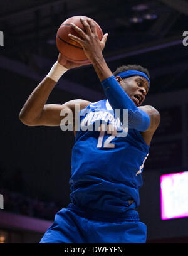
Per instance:
[[[146,229],[135,210],[120,216],[68,206],[56,213],[39,243],[145,243]]]

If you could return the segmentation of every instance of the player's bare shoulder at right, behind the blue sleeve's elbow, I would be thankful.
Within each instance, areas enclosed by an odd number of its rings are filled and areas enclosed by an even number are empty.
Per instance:
[[[141,106],[139,107],[139,109],[142,109],[144,112],[146,112],[149,117],[150,117],[150,125],[148,127],[148,129],[144,132],[152,132],[154,133],[155,130],[157,129],[157,127],[160,124],[160,113],[157,109],[155,109],[154,107],[147,105],[147,106]]]

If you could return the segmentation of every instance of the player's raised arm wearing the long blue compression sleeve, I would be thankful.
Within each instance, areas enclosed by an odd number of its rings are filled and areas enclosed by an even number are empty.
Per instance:
[[[128,109],[128,127],[137,129],[138,131],[146,131],[150,126],[149,115],[135,106],[133,101],[117,82],[103,58],[102,51],[105,47],[108,34],[105,34],[100,41],[98,39],[95,24],[90,19],[82,20],[81,22],[83,23],[83,26],[85,26],[86,33],[75,26],[75,24],[71,24],[81,38],[69,35],[70,38],[83,46],[86,56],[93,63],[95,72],[102,83],[103,90],[110,105],[113,110],[120,109],[120,120],[123,120],[123,109]]]

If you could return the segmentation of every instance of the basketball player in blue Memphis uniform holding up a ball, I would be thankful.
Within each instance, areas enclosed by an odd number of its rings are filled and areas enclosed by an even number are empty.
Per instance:
[[[112,73],[102,55],[108,35],[100,41],[93,22],[81,22],[85,31],[71,24],[81,39],[69,36],[83,46],[107,100],[46,104],[61,75],[79,67],[59,55],[19,116],[29,126],[58,126],[61,110],[71,111],[74,116],[75,104],[80,104],[80,129],[74,131],[71,159],[71,203],[56,213],[40,243],[145,243],[146,226],[135,209],[139,205],[144,162],[160,123],[160,114],[154,107],[140,106],[149,91],[149,73],[138,65],[122,66]],[[120,117],[115,116],[116,109],[120,109]],[[128,127],[122,123],[123,109],[127,109]],[[93,129],[83,131],[82,125]],[[107,131],[103,131],[102,125]]]

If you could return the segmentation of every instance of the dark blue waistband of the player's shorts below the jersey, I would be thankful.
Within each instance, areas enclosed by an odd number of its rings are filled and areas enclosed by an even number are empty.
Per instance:
[[[125,212],[119,213],[113,211],[91,209],[85,206],[78,206],[70,203],[67,209],[73,211],[83,218],[88,218],[90,220],[105,222],[140,221],[138,212],[133,208],[127,208]]]

